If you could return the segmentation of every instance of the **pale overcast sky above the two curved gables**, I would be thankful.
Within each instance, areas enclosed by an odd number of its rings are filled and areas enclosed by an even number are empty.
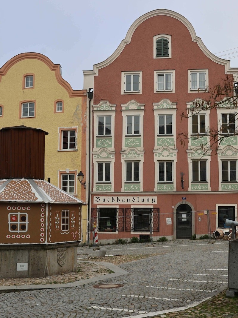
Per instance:
[[[109,57],[132,23],[155,9],[186,17],[209,51],[227,54],[222,58],[238,67],[237,0],[0,0],[0,4],[0,66],[19,53],[42,53],[61,65],[62,76],[73,89],[83,88],[83,70],[92,70],[93,64]]]

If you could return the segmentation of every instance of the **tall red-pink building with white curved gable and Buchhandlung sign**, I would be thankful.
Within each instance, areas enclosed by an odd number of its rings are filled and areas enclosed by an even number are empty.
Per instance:
[[[222,139],[216,152],[206,134],[224,119],[236,126],[235,109],[182,116],[227,74],[236,78],[238,69],[209,52],[190,22],[170,10],[139,17],[108,59],[84,71],[84,89],[93,88],[88,215],[99,241],[151,233],[190,239],[228,231],[225,218],[237,220],[237,136]],[[188,135],[183,144],[181,134]]]

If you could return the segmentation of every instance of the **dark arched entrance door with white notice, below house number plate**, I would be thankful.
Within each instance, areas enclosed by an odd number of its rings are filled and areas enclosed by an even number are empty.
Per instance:
[[[188,204],[179,204],[176,209],[176,239],[191,239],[192,208]]]

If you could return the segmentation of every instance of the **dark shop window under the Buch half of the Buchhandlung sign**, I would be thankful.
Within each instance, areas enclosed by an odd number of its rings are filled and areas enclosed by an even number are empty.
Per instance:
[[[116,231],[117,208],[99,208],[99,231]]]

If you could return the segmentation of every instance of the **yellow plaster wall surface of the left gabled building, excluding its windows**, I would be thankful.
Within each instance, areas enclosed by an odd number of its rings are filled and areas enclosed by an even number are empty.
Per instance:
[[[24,75],[34,74],[34,88],[24,88]],[[21,101],[35,100],[35,117],[20,118]],[[63,100],[63,113],[55,113],[55,100]],[[23,53],[0,69],[0,128],[24,125],[41,128],[45,136],[45,180],[59,186],[58,170],[82,170],[85,174],[85,137],[82,139],[82,107],[86,91],[73,91],[61,77],[60,66],[39,53]],[[77,151],[59,150],[59,127],[77,127]],[[83,153],[83,161],[82,161]],[[85,189],[77,180],[77,197],[85,201]],[[85,209],[84,209],[85,210]],[[86,214],[86,213],[85,213]],[[83,215],[82,218],[87,218]]]

